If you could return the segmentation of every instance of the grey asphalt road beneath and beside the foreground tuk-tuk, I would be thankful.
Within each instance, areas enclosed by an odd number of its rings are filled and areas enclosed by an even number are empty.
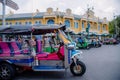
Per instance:
[[[87,68],[82,77],[73,76],[69,70],[66,76],[64,72],[26,71],[15,80],[120,80],[120,44],[82,51],[81,60]]]

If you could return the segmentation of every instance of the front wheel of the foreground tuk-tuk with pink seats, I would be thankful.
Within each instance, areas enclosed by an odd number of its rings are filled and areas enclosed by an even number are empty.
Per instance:
[[[77,66],[75,65],[75,63],[73,62],[70,65],[70,71],[74,76],[82,76],[85,71],[86,71],[86,66],[83,62],[78,61],[77,62]]]

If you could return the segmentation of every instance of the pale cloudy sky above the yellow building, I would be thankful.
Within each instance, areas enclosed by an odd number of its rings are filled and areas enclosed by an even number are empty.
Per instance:
[[[65,12],[71,9],[73,14],[83,15],[87,8],[94,7],[95,16],[103,19],[106,17],[109,21],[113,16],[120,15],[120,0],[12,0],[18,4],[19,9],[13,10],[6,7],[6,14],[13,11],[18,13],[34,13],[36,9],[45,12],[47,8],[52,7],[55,11]],[[2,4],[0,4],[0,14],[2,14]]]

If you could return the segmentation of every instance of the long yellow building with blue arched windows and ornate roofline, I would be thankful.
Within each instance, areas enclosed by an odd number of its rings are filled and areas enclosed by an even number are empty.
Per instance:
[[[66,27],[75,33],[84,33],[89,25],[89,33],[101,35],[109,34],[108,21],[106,18],[99,19],[94,16],[94,12],[89,10],[84,15],[76,15],[71,9],[61,12],[58,9],[47,8],[46,12],[14,14],[10,12],[6,15],[6,25],[34,25],[34,24],[66,24]],[[2,15],[0,16],[2,24]]]

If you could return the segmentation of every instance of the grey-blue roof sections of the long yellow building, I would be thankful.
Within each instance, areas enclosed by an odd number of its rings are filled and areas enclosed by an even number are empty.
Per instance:
[[[6,20],[17,20],[17,19],[31,19],[31,18],[43,18],[43,16],[45,16],[46,12],[38,12],[38,13],[21,13],[21,14],[8,14],[6,15]],[[53,15],[56,16],[64,16],[66,15],[65,12],[57,12],[54,11]],[[76,15],[76,14],[72,14],[75,20],[80,20],[81,18],[86,19],[85,15]],[[0,20],[2,20],[2,15],[0,15]],[[95,19],[91,19],[93,21],[96,21]],[[103,22],[103,19],[99,19],[99,22]]]

